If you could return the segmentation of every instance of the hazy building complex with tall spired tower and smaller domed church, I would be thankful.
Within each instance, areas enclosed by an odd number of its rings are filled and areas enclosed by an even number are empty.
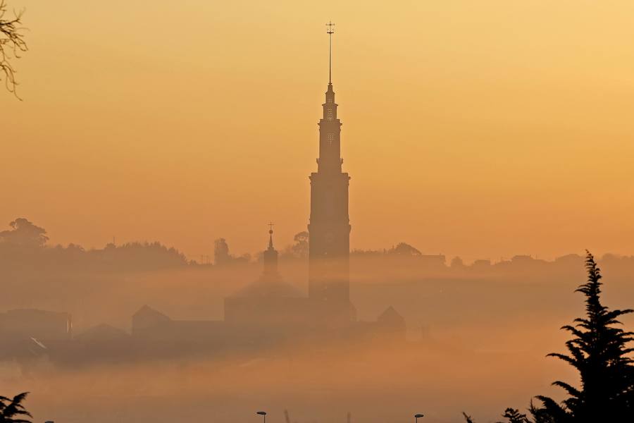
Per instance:
[[[328,34],[332,63],[332,31]],[[357,321],[350,301],[350,178],[342,171],[342,123],[337,118],[331,69],[319,121],[317,171],[310,176],[308,296],[282,278],[271,229],[261,276],[225,298],[223,320],[176,320],[144,305],[132,316],[130,336],[102,324],[73,338],[70,315],[22,310],[0,314],[0,334],[38,343],[36,337],[66,341],[51,344],[52,349],[41,344],[64,362],[209,355],[297,341],[312,346],[323,341],[404,341],[405,320],[393,307],[376,321]]]

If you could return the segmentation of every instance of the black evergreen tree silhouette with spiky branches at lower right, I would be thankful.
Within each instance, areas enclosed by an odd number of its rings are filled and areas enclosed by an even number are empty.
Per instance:
[[[573,335],[566,342],[568,354],[552,353],[579,372],[581,386],[564,381],[554,386],[564,388],[568,398],[561,404],[547,396],[537,396],[542,407],[531,407],[536,423],[634,422],[634,365],[630,358],[632,332],[619,328],[617,320],[631,309],[610,310],[601,303],[601,273],[595,258],[586,251],[588,282],[576,292],[585,295],[585,317],[575,325],[562,327]]]

